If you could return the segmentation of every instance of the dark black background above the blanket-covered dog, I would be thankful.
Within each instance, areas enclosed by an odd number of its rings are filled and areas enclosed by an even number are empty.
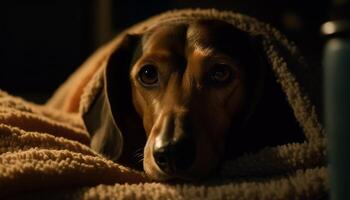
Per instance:
[[[277,27],[320,67],[326,0],[31,0],[0,3],[0,88],[35,102],[120,30],[175,8],[242,12]]]

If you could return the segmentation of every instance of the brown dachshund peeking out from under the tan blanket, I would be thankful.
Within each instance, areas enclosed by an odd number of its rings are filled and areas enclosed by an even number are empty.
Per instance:
[[[113,133],[93,135],[93,148],[133,167],[135,151],[143,151],[143,169],[154,180],[200,180],[227,157],[289,140],[269,142],[278,128],[271,128],[267,139],[252,135],[268,120],[247,125],[268,85],[268,64],[259,52],[251,35],[218,20],[163,24],[126,35],[106,72],[123,150],[115,151]],[[252,134],[244,133],[252,127]],[[257,142],[248,142],[251,137]]]

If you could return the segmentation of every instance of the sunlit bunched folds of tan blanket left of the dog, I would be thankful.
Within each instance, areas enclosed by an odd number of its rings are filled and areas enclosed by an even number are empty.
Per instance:
[[[147,180],[140,172],[104,159],[87,144],[89,135],[79,115],[34,105],[0,91],[0,198],[36,190]]]

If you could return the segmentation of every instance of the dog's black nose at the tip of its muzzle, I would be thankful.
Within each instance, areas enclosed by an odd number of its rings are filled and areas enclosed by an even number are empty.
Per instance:
[[[195,155],[195,143],[190,138],[155,146],[153,150],[154,160],[165,173],[181,172],[188,169],[193,164]]]

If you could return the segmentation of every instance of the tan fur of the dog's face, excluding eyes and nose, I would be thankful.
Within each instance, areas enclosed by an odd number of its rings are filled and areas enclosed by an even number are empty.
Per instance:
[[[210,28],[211,24],[205,22],[190,24],[185,30],[180,25],[156,28],[143,41],[142,55],[130,72],[133,103],[148,135],[144,170],[154,179],[189,179],[210,174],[223,157],[232,119],[245,106],[244,66],[235,63],[234,55],[218,48]],[[158,66],[161,83],[157,89],[149,90],[139,83],[137,75],[145,63]],[[226,63],[235,73],[227,85],[215,87],[206,83],[208,70],[216,63]],[[157,140],[176,140],[190,134],[183,129],[188,119],[197,147],[195,161],[182,174],[166,174],[155,163],[153,147]],[[174,127],[162,135],[171,123]]]

